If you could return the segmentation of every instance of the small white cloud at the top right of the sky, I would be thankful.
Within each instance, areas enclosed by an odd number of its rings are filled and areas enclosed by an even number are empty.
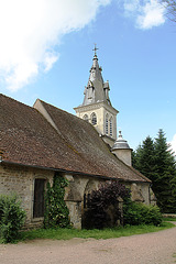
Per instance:
[[[165,22],[165,8],[158,0],[124,0],[123,9],[125,15],[134,18],[136,28],[142,30],[148,30]]]

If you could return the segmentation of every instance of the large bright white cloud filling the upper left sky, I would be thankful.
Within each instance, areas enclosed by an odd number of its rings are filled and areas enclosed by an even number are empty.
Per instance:
[[[0,1],[0,79],[18,90],[58,59],[61,37],[95,19],[111,0]]]

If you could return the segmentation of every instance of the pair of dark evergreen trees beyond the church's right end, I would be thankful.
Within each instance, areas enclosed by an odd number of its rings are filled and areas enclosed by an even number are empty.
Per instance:
[[[163,212],[176,212],[176,162],[165,133],[153,141],[147,136],[133,154],[133,166],[152,180],[157,205]]]

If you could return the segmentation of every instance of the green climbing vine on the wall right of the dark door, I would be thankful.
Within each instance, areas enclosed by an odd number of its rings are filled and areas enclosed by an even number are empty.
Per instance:
[[[69,227],[69,210],[64,200],[67,180],[56,173],[53,178],[53,186],[47,183],[45,194],[44,228]]]

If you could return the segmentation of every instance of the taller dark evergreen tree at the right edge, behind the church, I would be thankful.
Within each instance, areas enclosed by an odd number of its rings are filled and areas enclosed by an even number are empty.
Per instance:
[[[153,179],[153,190],[156,195],[157,204],[162,211],[175,212],[176,163],[163,130],[158,131],[158,135],[155,139],[155,172],[156,177]]]

